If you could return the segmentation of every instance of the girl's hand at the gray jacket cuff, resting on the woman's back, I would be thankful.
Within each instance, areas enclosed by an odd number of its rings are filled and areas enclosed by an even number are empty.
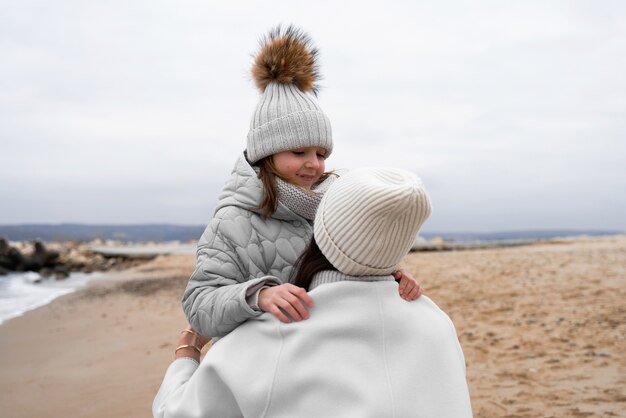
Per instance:
[[[301,321],[308,319],[308,308],[313,307],[313,299],[303,288],[285,283],[261,290],[258,305],[263,312],[269,312],[283,322]]]

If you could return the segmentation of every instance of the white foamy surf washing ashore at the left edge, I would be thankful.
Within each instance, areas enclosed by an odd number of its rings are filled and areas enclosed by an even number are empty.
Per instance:
[[[104,273],[72,273],[67,279],[43,278],[35,272],[0,276],[0,324],[84,287]]]

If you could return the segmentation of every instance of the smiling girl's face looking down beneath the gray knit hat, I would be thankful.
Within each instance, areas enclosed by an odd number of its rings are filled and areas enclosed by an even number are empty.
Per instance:
[[[287,182],[310,190],[324,174],[326,150],[320,147],[298,148],[273,155],[274,167]]]

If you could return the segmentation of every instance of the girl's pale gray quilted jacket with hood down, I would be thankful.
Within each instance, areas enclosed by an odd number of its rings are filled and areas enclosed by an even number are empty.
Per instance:
[[[196,270],[183,296],[189,324],[203,335],[222,337],[261,315],[248,305],[247,294],[263,283],[288,282],[311,241],[311,224],[280,202],[263,219],[261,197],[261,181],[241,155],[198,241]]]

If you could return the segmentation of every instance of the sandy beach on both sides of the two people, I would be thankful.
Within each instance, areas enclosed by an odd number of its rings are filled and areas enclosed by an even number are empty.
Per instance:
[[[161,256],[0,325],[0,415],[151,416],[193,267]],[[626,417],[626,236],[404,267],[456,325],[476,417]]]

